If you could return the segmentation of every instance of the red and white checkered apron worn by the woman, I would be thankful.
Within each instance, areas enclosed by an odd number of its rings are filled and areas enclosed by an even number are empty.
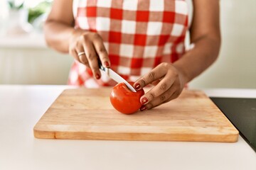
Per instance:
[[[75,27],[102,36],[111,69],[136,81],[161,62],[175,62],[185,50],[188,4],[185,0],[79,0]],[[68,84],[114,86],[107,75],[100,80],[74,62]]]

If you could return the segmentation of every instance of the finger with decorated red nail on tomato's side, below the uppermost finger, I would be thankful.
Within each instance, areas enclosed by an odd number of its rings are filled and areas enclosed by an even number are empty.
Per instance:
[[[168,91],[171,86],[174,84],[175,79],[171,76],[171,73],[166,74],[166,77],[162,79],[159,84],[154,86],[151,90],[149,90],[144,96],[141,97],[141,103],[145,105],[146,103],[151,102],[154,98],[158,98],[161,96],[160,99],[169,98],[169,96],[162,95],[162,94],[169,94]]]

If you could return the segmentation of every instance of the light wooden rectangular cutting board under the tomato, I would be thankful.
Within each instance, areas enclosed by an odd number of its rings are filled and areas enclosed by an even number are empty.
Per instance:
[[[184,90],[149,111],[124,115],[111,89],[67,89],[34,127],[48,139],[236,142],[238,130],[203,91]]]

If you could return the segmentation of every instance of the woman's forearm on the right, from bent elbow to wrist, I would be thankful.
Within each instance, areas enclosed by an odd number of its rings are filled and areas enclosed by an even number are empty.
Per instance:
[[[186,83],[201,74],[217,59],[220,50],[220,36],[205,35],[193,44],[195,45],[193,49],[174,63],[174,67],[185,77]]]

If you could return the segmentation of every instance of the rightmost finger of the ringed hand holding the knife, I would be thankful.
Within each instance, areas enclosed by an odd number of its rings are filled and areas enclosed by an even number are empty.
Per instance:
[[[100,61],[102,62],[103,67],[110,67],[110,58],[108,57],[107,50],[103,44],[102,38],[98,34],[95,36],[96,37],[93,41],[93,45],[97,55],[100,57]]]

